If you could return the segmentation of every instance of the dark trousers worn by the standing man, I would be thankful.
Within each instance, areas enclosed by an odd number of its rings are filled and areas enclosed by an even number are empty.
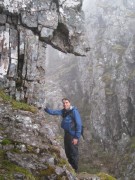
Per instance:
[[[65,153],[68,158],[68,162],[71,164],[73,169],[75,171],[78,170],[78,144],[74,145],[72,143],[73,137],[65,132],[64,135],[64,147],[65,147]]]

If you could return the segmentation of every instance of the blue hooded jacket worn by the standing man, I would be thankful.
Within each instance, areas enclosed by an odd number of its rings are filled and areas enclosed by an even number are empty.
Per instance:
[[[52,110],[52,109],[44,109],[50,115],[61,115],[63,117],[63,109],[62,110]],[[71,111],[71,110],[65,110]],[[66,117],[62,119],[61,127],[69,132],[71,136],[79,139],[82,131],[82,120],[80,114],[76,107],[72,107],[72,112],[68,114]]]

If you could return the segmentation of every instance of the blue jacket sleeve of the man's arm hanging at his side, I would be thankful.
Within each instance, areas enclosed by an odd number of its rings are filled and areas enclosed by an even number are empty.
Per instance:
[[[74,138],[79,139],[81,137],[81,131],[82,131],[82,120],[77,109],[73,111],[73,116],[74,116],[75,126],[76,126]]]

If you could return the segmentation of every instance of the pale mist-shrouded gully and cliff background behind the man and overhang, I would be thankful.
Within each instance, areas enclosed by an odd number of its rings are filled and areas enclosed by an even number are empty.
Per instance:
[[[95,167],[132,180],[134,160],[129,169],[123,157],[135,137],[135,1],[84,0],[82,10],[90,52],[77,57],[48,47],[47,101],[61,108],[66,96],[81,112],[80,171]]]

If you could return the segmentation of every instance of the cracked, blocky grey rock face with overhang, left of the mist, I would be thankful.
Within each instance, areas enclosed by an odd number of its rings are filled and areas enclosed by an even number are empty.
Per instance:
[[[45,99],[46,43],[84,55],[81,0],[0,2],[0,87],[17,100],[41,106]]]

